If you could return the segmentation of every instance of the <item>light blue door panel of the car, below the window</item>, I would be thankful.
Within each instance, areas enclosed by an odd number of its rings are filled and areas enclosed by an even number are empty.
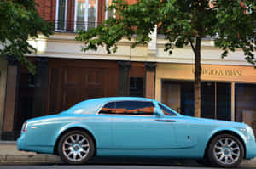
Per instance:
[[[172,122],[154,116],[114,116],[114,149],[172,149],[176,138]]]

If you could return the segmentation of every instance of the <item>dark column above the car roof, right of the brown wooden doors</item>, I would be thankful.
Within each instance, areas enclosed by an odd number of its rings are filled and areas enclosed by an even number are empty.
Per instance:
[[[118,61],[118,65],[119,65],[118,96],[129,96],[129,89],[130,89],[130,79],[129,79],[130,61]]]

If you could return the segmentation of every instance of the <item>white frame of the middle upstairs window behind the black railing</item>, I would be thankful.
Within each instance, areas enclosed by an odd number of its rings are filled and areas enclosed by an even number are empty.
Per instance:
[[[89,0],[85,0],[84,6],[84,28],[88,29],[88,11],[89,11]],[[78,8],[78,0],[75,0],[75,14],[74,14],[74,31],[77,31],[77,8]],[[98,0],[96,0],[96,15],[95,15],[95,27],[97,26],[98,21]]]

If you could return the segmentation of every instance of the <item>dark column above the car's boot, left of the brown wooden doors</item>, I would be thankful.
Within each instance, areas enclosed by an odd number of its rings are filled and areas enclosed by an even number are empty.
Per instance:
[[[36,58],[37,70],[34,76],[33,117],[45,115],[48,85],[48,58]]]

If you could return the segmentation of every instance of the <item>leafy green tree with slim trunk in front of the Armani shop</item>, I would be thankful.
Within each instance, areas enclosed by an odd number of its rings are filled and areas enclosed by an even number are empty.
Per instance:
[[[158,33],[165,36],[165,50],[190,45],[195,54],[195,116],[201,116],[201,41],[212,37],[216,47],[228,52],[242,48],[245,59],[255,64],[255,5],[254,0],[137,0],[129,5],[113,0],[108,10],[118,17],[109,18],[102,25],[79,31],[77,40],[84,42],[83,50],[105,47],[115,52],[116,42],[134,37],[134,48],[150,41],[148,34],[158,25]]]

